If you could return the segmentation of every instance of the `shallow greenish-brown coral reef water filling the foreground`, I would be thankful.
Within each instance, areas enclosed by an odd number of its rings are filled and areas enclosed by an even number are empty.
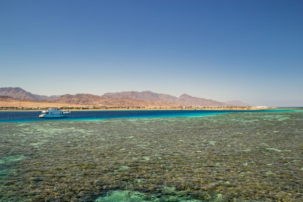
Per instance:
[[[301,202],[301,109],[0,123],[0,202]]]

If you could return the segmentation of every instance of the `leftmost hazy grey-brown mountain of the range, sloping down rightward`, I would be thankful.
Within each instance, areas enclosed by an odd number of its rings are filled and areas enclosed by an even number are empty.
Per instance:
[[[41,100],[51,101],[51,100],[55,99],[56,97],[59,97],[58,95],[46,96],[46,95],[32,94],[19,87],[0,88],[0,95],[9,96],[9,97],[12,97],[15,99],[35,100],[35,101],[41,101]]]

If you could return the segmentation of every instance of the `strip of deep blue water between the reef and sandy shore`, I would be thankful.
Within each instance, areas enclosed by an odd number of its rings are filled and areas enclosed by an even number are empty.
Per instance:
[[[35,122],[35,121],[97,121],[116,118],[163,118],[163,117],[198,117],[223,113],[289,111],[271,110],[99,110],[72,111],[67,117],[41,119],[41,111],[0,111],[0,122]]]

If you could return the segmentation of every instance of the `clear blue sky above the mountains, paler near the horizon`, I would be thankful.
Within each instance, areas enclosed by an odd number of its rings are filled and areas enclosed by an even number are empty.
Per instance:
[[[303,106],[303,0],[1,0],[0,87]]]

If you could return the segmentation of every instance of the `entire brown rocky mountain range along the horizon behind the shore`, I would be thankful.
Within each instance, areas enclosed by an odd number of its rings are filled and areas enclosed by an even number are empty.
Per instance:
[[[54,103],[66,103],[76,105],[88,105],[88,106],[237,106],[237,107],[249,107],[250,104],[243,103],[239,100],[233,100],[228,102],[218,102],[211,99],[193,97],[187,94],[182,94],[180,97],[175,97],[169,94],[153,93],[151,91],[143,92],[120,92],[120,93],[105,93],[103,95],[93,94],[64,94],[64,95],[38,95],[32,94],[23,90],[22,88],[7,87],[0,88],[0,96],[2,99],[8,99],[8,97],[18,100],[32,100],[32,101],[49,101]],[[3,97],[8,96],[8,97]]]

